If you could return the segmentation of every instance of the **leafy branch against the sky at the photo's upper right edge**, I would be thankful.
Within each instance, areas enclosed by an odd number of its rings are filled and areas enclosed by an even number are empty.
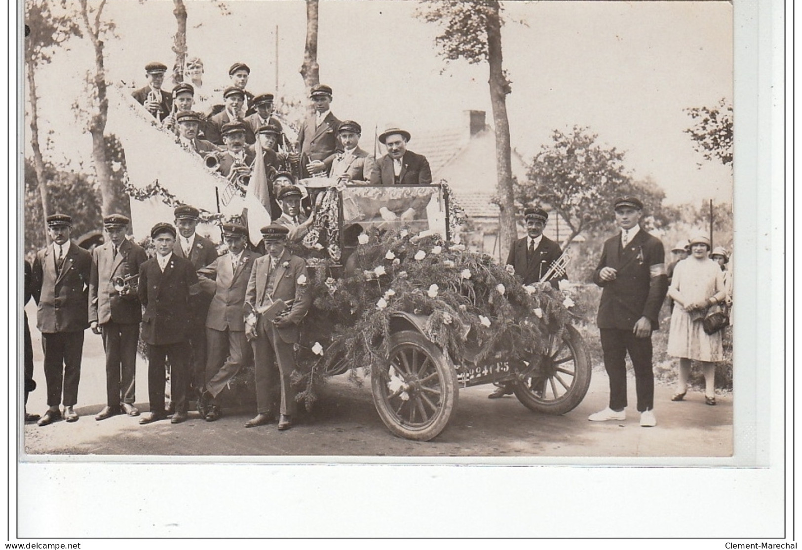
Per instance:
[[[684,111],[695,120],[685,130],[695,142],[695,151],[707,160],[719,160],[732,167],[732,105],[722,98],[715,107],[691,107]]]

